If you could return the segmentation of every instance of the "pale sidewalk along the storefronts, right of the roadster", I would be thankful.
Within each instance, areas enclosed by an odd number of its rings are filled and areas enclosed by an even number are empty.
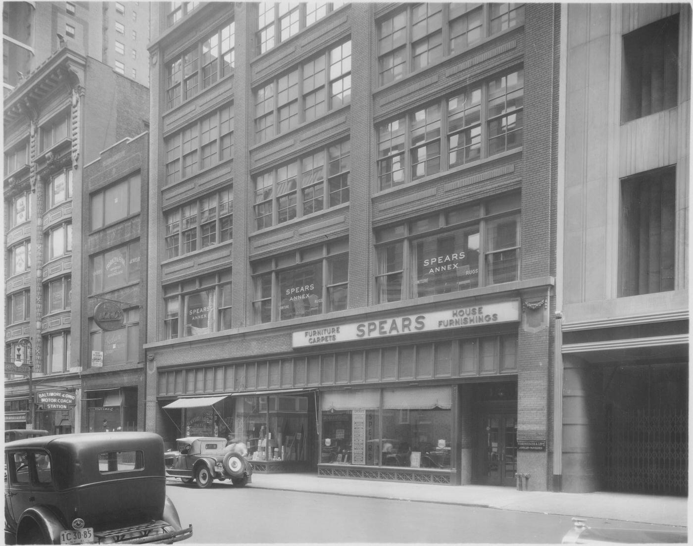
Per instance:
[[[494,486],[446,486],[319,477],[315,474],[253,474],[251,487],[328,495],[439,502],[520,512],[550,513],[687,527],[687,497],[626,493],[551,493]]]

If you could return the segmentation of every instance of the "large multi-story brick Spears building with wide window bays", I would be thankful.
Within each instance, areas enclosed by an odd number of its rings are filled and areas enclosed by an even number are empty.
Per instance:
[[[560,12],[154,6],[148,430],[550,486]]]

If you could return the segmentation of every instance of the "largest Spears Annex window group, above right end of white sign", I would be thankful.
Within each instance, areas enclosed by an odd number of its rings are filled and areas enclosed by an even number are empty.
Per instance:
[[[376,301],[518,280],[520,195],[376,230]]]

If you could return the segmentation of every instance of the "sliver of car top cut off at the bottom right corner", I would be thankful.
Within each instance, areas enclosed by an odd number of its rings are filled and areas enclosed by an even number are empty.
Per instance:
[[[573,528],[563,536],[563,544],[667,544],[687,543],[685,529],[633,529],[626,524],[617,527],[590,527],[584,518],[572,518]]]

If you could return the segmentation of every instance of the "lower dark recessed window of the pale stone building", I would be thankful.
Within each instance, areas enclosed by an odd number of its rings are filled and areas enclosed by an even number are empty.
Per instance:
[[[674,290],[676,167],[621,180],[618,295]]]

